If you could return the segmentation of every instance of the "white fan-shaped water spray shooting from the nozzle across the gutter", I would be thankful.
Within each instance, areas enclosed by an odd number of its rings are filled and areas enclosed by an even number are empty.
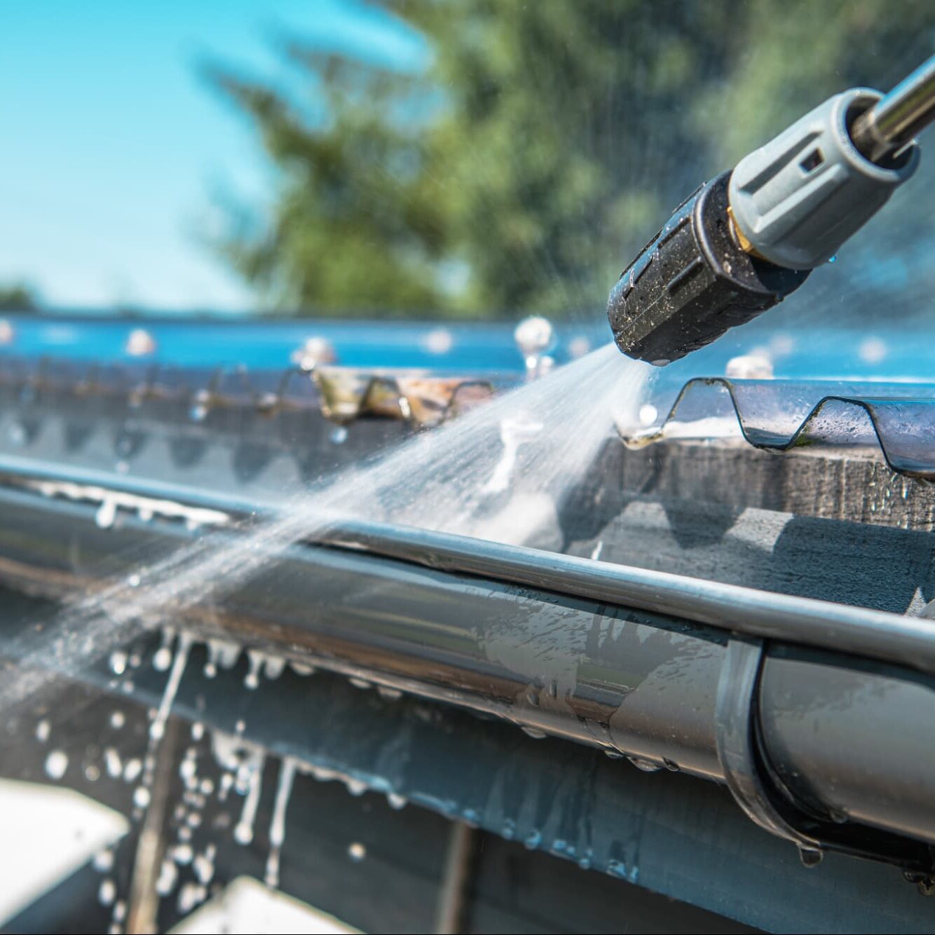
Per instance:
[[[650,367],[612,345],[390,453],[282,499],[268,518],[211,532],[68,604],[14,649],[0,704],[76,672],[138,630],[171,624],[342,519],[380,519],[516,544],[560,543],[558,511],[614,422],[633,424]]]

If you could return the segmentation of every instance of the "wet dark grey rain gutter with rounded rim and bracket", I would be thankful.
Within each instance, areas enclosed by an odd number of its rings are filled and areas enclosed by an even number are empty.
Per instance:
[[[0,506],[0,573],[54,578],[58,593],[193,535],[124,511],[100,528],[93,502],[22,488],[0,488]],[[368,524],[289,548],[209,609],[166,612],[206,637],[726,783],[806,854],[932,868],[928,621]]]

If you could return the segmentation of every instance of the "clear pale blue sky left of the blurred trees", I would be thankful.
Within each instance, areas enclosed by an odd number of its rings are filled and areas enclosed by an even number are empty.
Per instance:
[[[0,4],[0,283],[51,305],[249,309],[199,242],[211,193],[262,199],[248,125],[205,57],[285,81],[277,36],[399,64],[418,37],[360,0],[5,0]]]

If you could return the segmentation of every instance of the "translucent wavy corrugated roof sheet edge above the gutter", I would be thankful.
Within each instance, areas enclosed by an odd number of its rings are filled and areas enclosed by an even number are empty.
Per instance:
[[[316,471],[381,447],[400,433],[456,417],[515,385],[517,374],[476,379],[405,369],[247,370],[0,357],[0,454],[91,459],[95,467],[145,462],[154,439],[172,439],[176,468],[196,466],[212,442],[237,448],[245,479],[270,449],[309,450]],[[775,452],[882,454],[893,470],[935,478],[935,384],[698,378],[663,382],[627,445],[743,440]],[[354,424],[363,420],[363,427]],[[372,426],[385,422],[383,428]],[[50,433],[54,438],[50,438]],[[105,436],[106,439],[103,439]],[[106,446],[102,445],[107,442]]]

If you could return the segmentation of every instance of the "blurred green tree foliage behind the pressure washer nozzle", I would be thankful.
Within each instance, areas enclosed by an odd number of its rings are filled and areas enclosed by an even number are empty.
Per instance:
[[[828,94],[888,87],[935,24],[928,0],[381,6],[426,37],[424,72],[299,40],[307,94],[210,72],[279,170],[220,245],[274,309],[595,309],[699,182]]]

